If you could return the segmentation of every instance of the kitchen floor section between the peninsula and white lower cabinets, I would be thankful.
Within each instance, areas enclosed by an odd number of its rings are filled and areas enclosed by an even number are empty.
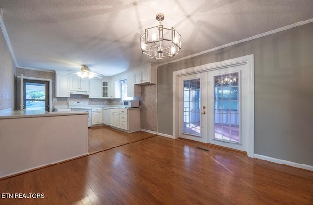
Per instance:
[[[126,133],[108,126],[88,128],[88,152],[93,154],[155,136],[148,132]]]

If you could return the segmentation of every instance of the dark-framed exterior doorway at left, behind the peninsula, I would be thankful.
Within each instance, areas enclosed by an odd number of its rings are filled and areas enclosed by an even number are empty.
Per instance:
[[[50,110],[49,82],[24,79],[24,109],[26,110]]]

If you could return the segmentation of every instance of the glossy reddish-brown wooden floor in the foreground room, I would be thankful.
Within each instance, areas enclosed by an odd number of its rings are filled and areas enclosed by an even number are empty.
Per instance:
[[[45,197],[1,205],[313,205],[313,172],[154,136],[0,180],[0,193]]]

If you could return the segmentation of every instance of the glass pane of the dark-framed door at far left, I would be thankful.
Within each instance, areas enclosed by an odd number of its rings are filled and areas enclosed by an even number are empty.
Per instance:
[[[45,84],[26,82],[25,109],[45,110]]]

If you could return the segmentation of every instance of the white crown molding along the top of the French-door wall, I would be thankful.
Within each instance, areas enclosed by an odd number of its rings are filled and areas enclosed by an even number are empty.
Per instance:
[[[195,56],[200,56],[200,55],[205,54],[205,53],[216,51],[216,50],[219,50],[219,49],[222,49],[222,48],[226,48],[226,47],[229,47],[229,46],[232,46],[232,45],[236,45],[236,44],[239,44],[239,43],[242,43],[242,42],[250,41],[250,40],[253,40],[253,39],[258,39],[258,38],[261,38],[261,37],[264,37],[264,36],[268,36],[268,35],[271,35],[271,34],[274,34],[274,33],[285,31],[285,30],[288,30],[288,29],[291,29],[291,28],[294,28],[294,27],[297,27],[297,26],[301,26],[301,25],[304,25],[304,24],[308,24],[308,23],[311,23],[311,22],[313,22],[313,19],[300,21],[300,22],[297,22],[297,23],[294,23],[294,24],[291,24],[291,25],[288,25],[288,26],[284,26],[284,27],[281,27],[281,28],[277,28],[277,29],[274,29],[274,30],[271,30],[271,31],[268,31],[268,32],[265,32],[265,33],[262,33],[262,34],[251,36],[251,37],[248,37],[246,39],[242,39],[242,40],[239,40],[239,41],[227,43],[225,45],[221,45],[221,46],[218,46],[218,47],[215,47],[215,48],[211,48],[209,50],[205,50],[205,51],[201,51],[201,52],[196,53],[196,54],[185,56],[185,57],[182,57],[180,59],[176,59],[176,60],[173,60],[173,61],[170,61],[170,62],[164,62],[164,63],[161,63],[161,64],[157,64],[157,66],[162,66],[162,65],[173,63],[173,62],[178,62],[178,61],[181,61],[181,60],[189,59],[189,58],[192,58],[192,57],[195,57]]]

